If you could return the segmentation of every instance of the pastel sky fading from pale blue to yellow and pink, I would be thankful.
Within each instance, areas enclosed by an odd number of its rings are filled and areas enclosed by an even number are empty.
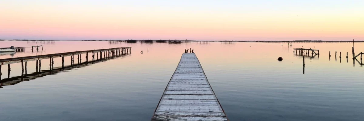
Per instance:
[[[0,39],[364,40],[364,0],[0,0]]]

